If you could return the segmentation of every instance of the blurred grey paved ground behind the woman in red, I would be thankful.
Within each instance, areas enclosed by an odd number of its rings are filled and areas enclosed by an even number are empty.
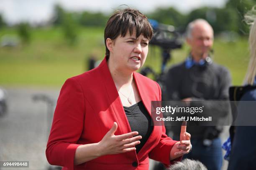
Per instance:
[[[34,102],[32,96],[46,94],[56,102],[59,90],[8,88],[7,93],[8,114],[0,117],[0,160],[27,160],[29,168],[18,169],[46,170],[49,168],[45,157],[49,127],[48,107],[46,102]],[[225,127],[222,139],[227,136],[228,127]],[[226,170],[226,167],[227,161],[224,161],[223,170]],[[5,169],[17,170],[1,168]]]

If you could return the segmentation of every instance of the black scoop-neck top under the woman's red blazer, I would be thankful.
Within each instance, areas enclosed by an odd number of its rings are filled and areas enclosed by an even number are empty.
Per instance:
[[[130,107],[123,106],[123,108],[130,124],[131,131],[137,131],[138,135],[142,136],[142,139],[140,140],[141,143],[135,146],[136,153],[138,153],[152,133],[153,126],[151,126],[151,117],[142,101]]]

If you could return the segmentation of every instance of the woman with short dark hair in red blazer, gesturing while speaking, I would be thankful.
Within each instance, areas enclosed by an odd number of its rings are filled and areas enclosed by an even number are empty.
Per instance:
[[[151,125],[151,101],[161,101],[161,89],[136,72],[151,37],[151,25],[138,10],[110,17],[106,57],[61,88],[46,148],[50,164],[63,170],[148,170],[149,158],[167,166],[189,152],[189,133],[183,130],[182,141],[174,141],[164,126]]]

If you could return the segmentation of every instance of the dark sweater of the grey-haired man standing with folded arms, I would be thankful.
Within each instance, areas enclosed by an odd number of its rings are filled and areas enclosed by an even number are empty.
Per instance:
[[[215,62],[203,66],[194,65],[190,68],[186,67],[185,62],[174,65],[166,72],[164,85],[166,91],[163,91],[163,100],[179,101],[192,97],[193,101],[201,101],[196,104],[202,103],[205,110],[212,110],[213,118],[217,117],[217,114],[219,114],[218,117],[228,114],[228,111],[225,111],[226,105],[220,106],[217,102],[210,102],[212,100],[228,100],[228,88],[231,85],[228,69]],[[172,127],[172,131],[174,131],[174,136],[179,136],[178,126]],[[221,129],[210,126],[201,126],[200,128],[188,126],[187,131],[193,139],[210,139],[208,136],[212,133],[216,135],[211,138],[218,137]]]

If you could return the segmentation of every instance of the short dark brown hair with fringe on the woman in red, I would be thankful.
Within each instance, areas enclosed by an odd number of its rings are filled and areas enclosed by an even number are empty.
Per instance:
[[[126,8],[124,10],[118,10],[108,19],[105,31],[105,47],[107,59],[109,58],[109,50],[106,45],[107,38],[115,40],[116,37],[121,35],[125,36],[126,32],[129,30],[130,35],[133,34],[133,28],[136,29],[136,38],[141,34],[148,40],[151,40],[153,30],[150,23],[145,15],[143,15],[138,10],[131,8]]]

